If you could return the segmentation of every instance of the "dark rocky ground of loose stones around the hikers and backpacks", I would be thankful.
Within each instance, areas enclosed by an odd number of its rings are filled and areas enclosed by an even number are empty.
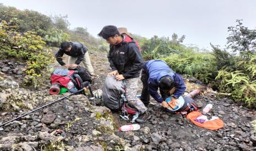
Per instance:
[[[92,89],[102,89],[110,71],[106,54],[91,53],[90,57],[96,73]],[[0,123],[68,95],[48,95],[50,83],[37,90],[22,88],[24,66],[0,61]],[[186,78],[186,84],[187,92],[203,89],[194,100],[200,109],[213,104],[208,116],[221,118],[223,129],[198,127],[151,99],[152,118],[140,124],[138,131],[122,132],[118,127],[130,123],[121,120],[119,113],[111,113],[101,100],[74,95],[0,127],[0,150],[256,150],[254,110],[217,97],[194,78]]]

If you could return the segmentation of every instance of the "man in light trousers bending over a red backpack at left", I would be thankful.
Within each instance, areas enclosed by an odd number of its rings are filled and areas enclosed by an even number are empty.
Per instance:
[[[64,54],[69,56],[68,65],[62,60],[62,56]],[[61,48],[55,54],[55,57],[61,66],[68,68],[76,68],[81,62],[83,62],[90,75],[94,75],[94,69],[91,66],[88,49],[81,43],[62,42]]]

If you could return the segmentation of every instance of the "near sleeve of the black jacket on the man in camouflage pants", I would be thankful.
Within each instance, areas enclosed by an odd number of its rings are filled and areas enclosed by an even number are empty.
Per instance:
[[[124,78],[132,77],[134,73],[137,73],[138,71],[141,70],[144,64],[144,61],[140,54],[140,50],[135,44],[129,45],[127,55],[128,55],[128,59],[133,63],[129,71],[123,74]]]

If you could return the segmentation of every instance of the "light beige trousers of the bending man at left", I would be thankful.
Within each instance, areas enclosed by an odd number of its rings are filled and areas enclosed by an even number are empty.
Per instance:
[[[77,60],[77,57],[69,56],[68,57],[68,64],[71,65],[71,64],[75,63],[76,60]],[[88,51],[86,51],[82,62],[84,64],[84,67],[87,69],[87,71],[91,75],[93,75],[94,74],[94,68],[92,68],[92,66],[91,66],[91,60],[90,60]]]

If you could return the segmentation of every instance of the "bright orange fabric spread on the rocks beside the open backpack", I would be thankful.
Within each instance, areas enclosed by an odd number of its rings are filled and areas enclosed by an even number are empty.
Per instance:
[[[205,129],[217,130],[224,127],[224,122],[221,119],[205,121],[204,123],[198,123],[197,121],[194,121],[195,119],[197,119],[199,115],[202,115],[202,114],[198,111],[193,111],[188,113],[187,118],[190,121],[192,121],[192,123],[194,123],[195,125],[204,127]]]

